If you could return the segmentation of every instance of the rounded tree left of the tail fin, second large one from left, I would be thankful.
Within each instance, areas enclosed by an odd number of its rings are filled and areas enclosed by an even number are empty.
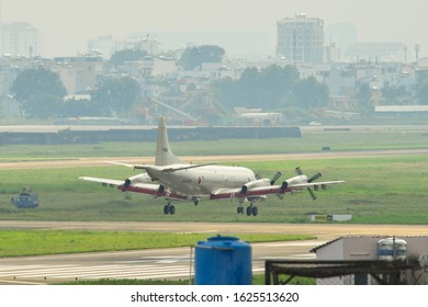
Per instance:
[[[102,115],[125,114],[140,95],[138,82],[131,77],[105,79],[93,92],[93,102]]]

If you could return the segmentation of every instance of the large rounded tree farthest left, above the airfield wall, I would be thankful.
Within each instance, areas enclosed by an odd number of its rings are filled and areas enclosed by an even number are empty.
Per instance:
[[[54,115],[48,110],[53,107],[49,104],[55,101],[54,104],[57,105],[58,101],[61,101],[67,93],[67,90],[57,73],[45,68],[31,68],[18,75],[11,87],[11,92],[30,116],[41,117],[42,114],[50,113],[49,116]],[[42,99],[46,99],[46,105],[44,105]],[[56,107],[52,111],[54,110]]]

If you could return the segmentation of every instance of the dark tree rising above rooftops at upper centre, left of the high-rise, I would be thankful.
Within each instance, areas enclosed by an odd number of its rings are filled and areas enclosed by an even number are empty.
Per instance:
[[[194,70],[203,62],[222,62],[225,50],[218,46],[203,45],[199,47],[185,48],[179,65],[185,70]]]

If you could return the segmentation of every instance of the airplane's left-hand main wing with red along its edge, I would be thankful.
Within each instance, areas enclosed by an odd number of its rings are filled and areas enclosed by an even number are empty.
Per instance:
[[[117,190],[121,190],[123,192],[129,191],[135,193],[143,193],[143,194],[153,195],[155,197],[165,197],[167,200],[184,201],[188,198],[188,196],[174,193],[168,189],[160,189],[159,184],[133,183],[125,187],[125,182],[123,180],[93,178],[93,177],[79,177],[79,179],[85,181],[99,182],[103,186],[117,187]]]

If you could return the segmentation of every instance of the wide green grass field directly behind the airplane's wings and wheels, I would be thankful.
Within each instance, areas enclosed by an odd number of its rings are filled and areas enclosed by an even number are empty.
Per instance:
[[[346,180],[342,185],[307,193],[270,196],[258,204],[259,216],[236,214],[236,202],[177,204],[174,216],[165,216],[164,200],[122,193],[101,184],[79,181],[80,175],[125,179],[127,168],[66,168],[0,170],[0,219],[40,220],[180,220],[180,221],[275,221],[308,223],[308,214],[352,214],[352,223],[426,224],[428,220],[428,157],[383,157],[302,161],[241,162],[257,173],[283,178],[300,166],[308,175],[320,171],[323,180]],[[38,193],[40,207],[18,209],[10,203],[22,186]]]

